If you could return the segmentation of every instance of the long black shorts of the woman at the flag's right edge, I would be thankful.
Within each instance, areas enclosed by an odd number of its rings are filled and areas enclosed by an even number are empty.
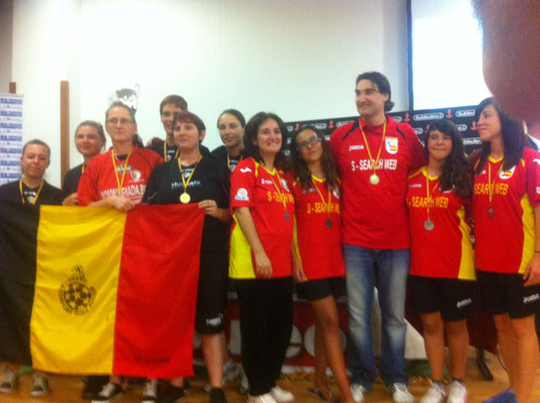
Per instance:
[[[215,334],[225,329],[228,293],[228,250],[201,251],[195,331]]]

